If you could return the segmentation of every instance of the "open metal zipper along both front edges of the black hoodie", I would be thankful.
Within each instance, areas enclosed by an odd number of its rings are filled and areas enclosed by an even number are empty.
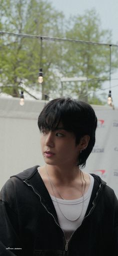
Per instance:
[[[42,203],[40,195],[39,195],[37,192],[35,192],[34,188],[33,188],[30,184],[28,184],[28,183],[27,183],[26,181],[24,181],[24,180],[23,180],[23,182],[24,182],[27,186],[29,186],[29,187],[32,188],[33,192],[40,198],[40,203],[41,203],[41,205],[42,205],[42,206],[45,208],[45,210],[53,217],[53,219],[54,219],[56,225],[61,229],[61,227],[59,226],[59,224],[58,224],[57,221],[55,220],[53,214],[50,213],[50,212],[47,210],[47,208],[45,207],[45,205]],[[100,183],[99,189],[98,189],[98,191],[97,191],[97,193],[96,193],[96,196],[95,196],[95,198],[94,198],[94,200],[93,200],[93,202],[92,202],[92,205],[93,205],[92,208],[89,210],[88,214],[83,218],[81,224],[82,224],[83,221],[88,217],[88,215],[91,214],[91,212],[93,211],[93,209],[94,209],[94,207],[95,207],[95,201],[96,201],[97,195],[98,195],[98,193],[99,193],[99,191],[100,191],[100,189],[101,189],[101,185],[102,185],[102,184]],[[80,224],[80,226],[81,226],[81,224]],[[80,227],[80,226],[79,226],[79,227]],[[79,227],[78,227],[78,228],[79,228]],[[63,232],[62,229],[61,229],[61,231]],[[70,236],[70,238],[69,238],[68,241],[66,241],[65,234],[64,234],[64,232],[63,232],[64,243],[65,243],[65,251],[66,251],[66,252],[67,252],[67,250],[68,250],[68,244],[69,244],[69,242],[70,242],[70,240],[71,240],[71,237],[73,236],[73,234],[74,234],[75,231],[76,231],[76,230],[73,231],[73,233],[71,234],[71,236]]]

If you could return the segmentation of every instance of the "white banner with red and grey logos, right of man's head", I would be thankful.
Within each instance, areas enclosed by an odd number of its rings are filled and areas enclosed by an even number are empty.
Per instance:
[[[118,109],[93,108],[98,118],[96,142],[84,171],[99,175],[118,197]]]

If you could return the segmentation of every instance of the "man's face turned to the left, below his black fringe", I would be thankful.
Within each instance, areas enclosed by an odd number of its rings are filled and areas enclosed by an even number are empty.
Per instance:
[[[41,133],[41,150],[44,161],[49,165],[76,165],[80,145],[75,145],[75,136],[59,125],[56,130],[44,129]]]

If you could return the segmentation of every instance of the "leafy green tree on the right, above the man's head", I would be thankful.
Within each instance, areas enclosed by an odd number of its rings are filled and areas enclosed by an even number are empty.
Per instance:
[[[94,10],[86,11],[83,16],[70,19],[66,38],[96,43],[111,44],[111,31],[100,28],[100,20]],[[112,48],[111,71],[117,68],[117,48]],[[63,72],[68,77],[87,77],[86,82],[69,83],[72,94],[83,97],[86,94],[86,87],[93,91],[101,88],[104,79],[109,78],[110,46],[86,44],[86,43],[66,43]],[[66,90],[66,86],[64,87]],[[64,91],[65,91],[64,90]]]

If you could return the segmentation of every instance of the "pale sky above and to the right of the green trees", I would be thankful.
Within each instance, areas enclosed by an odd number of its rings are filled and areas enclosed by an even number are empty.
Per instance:
[[[118,45],[118,0],[50,0],[49,2],[57,11],[62,11],[67,19],[70,15],[83,15],[85,11],[94,8],[101,21],[101,29],[111,30],[111,44]],[[117,71],[111,75],[111,79],[114,78],[118,79],[118,60]],[[109,82],[106,82],[105,88],[108,86]],[[108,93],[108,89],[104,92]],[[111,95],[114,106],[118,107],[118,80],[111,80]]]

